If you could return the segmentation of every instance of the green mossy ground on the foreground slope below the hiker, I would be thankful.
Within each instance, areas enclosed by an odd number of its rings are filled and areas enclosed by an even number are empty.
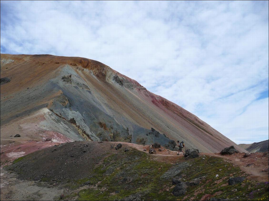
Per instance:
[[[179,164],[159,162],[154,160],[153,155],[135,149],[129,152],[120,150],[106,157],[102,164],[93,169],[92,177],[76,181],[77,185],[85,181],[91,181],[92,185],[73,196],[78,196],[77,200],[121,200],[139,193],[141,200],[200,200],[205,195],[208,198],[231,200],[268,200],[268,182],[258,183],[246,179],[243,183],[230,186],[230,175],[247,175],[222,158],[202,158],[188,160],[187,168],[164,179],[161,176],[173,166],[180,166],[180,161],[175,161]],[[215,177],[216,174],[219,177]],[[198,177],[204,179],[199,185],[188,187],[186,195],[174,196],[172,178],[179,177],[184,181]]]

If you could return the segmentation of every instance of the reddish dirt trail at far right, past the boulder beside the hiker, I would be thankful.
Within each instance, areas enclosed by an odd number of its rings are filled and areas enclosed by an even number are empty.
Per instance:
[[[249,157],[244,157],[244,153],[221,155],[220,153],[201,153],[208,156],[221,157],[238,165],[241,170],[250,174],[250,178],[259,181],[268,181],[268,152],[252,153]],[[266,171],[267,169],[267,171]]]

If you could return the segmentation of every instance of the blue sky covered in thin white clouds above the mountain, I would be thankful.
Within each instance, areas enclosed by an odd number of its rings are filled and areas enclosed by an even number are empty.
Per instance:
[[[235,143],[268,139],[268,1],[1,1],[1,53],[86,57]]]

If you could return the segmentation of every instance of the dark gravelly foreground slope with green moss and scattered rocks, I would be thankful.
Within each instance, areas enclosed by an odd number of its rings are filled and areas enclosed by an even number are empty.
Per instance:
[[[18,158],[2,170],[1,200],[268,200],[268,169],[262,180],[236,164],[268,166],[268,153],[185,157],[121,144],[70,142]]]

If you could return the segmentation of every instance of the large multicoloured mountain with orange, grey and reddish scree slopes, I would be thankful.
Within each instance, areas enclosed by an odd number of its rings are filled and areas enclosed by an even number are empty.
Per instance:
[[[176,140],[183,140],[186,148],[202,152],[231,145],[245,151],[192,113],[101,62],[1,54],[1,160],[82,140],[159,142],[171,150]]]

